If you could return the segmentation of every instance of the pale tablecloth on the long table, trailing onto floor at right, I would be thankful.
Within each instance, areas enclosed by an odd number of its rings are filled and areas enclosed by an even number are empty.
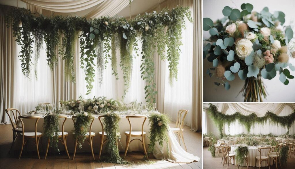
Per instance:
[[[64,120],[64,118],[60,118],[60,131],[61,131],[63,120]],[[25,126],[24,127],[25,132],[34,131],[35,120],[23,119],[23,121],[24,121],[24,126]],[[138,119],[138,118],[132,119],[131,118],[130,121],[131,121],[131,124],[132,124],[132,131],[141,131],[143,118],[140,118],[140,119]],[[38,121],[37,132],[42,132],[43,131],[43,127],[42,127],[43,123],[44,123],[44,118],[42,117]],[[20,122],[19,122],[18,126],[21,127]],[[73,128],[74,128],[73,120],[71,119],[71,117],[68,117],[68,119],[65,121],[64,131],[69,133],[69,135],[67,137],[67,148],[68,148],[69,152],[74,151],[75,143],[74,143],[73,134],[72,134]],[[130,130],[129,122],[125,118],[125,115],[121,115],[121,120],[119,121],[119,128],[120,128],[120,133],[121,133],[120,142],[121,142],[121,145],[122,145],[121,146],[119,144],[119,151],[124,152],[125,151],[125,144],[126,144],[126,135],[124,134],[124,132]],[[92,132],[96,133],[96,135],[94,136],[94,139],[93,139],[94,153],[99,152],[100,137],[98,135],[98,132],[100,132],[101,130],[102,130],[101,129],[101,124],[100,124],[100,122],[98,120],[98,117],[95,117],[95,120],[94,120],[93,125],[92,125]],[[150,136],[148,119],[145,121],[144,131],[147,133],[147,135],[145,137],[145,144],[146,144],[146,147],[148,148],[148,144],[150,142],[149,138],[148,138],[148,136]],[[132,137],[132,139],[133,138],[136,138],[136,137]],[[141,137],[138,137],[138,138],[141,139]],[[170,157],[168,157],[168,153],[166,152],[166,145],[165,144],[164,144],[163,148],[161,148],[160,145],[156,144],[155,152],[153,153],[155,158],[157,158],[157,159],[165,159],[165,160],[168,160],[168,161],[171,161],[171,162],[184,162],[184,163],[193,162],[193,161],[199,161],[200,160],[199,157],[194,156],[193,154],[189,154],[188,152],[183,150],[177,140],[178,139],[176,138],[175,134],[173,133],[173,131],[169,127],[169,129],[168,129],[168,141],[169,141],[169,147],[170,147]],[[41,140],[40,140],[40,142],[41,142]],[[33,144],[31,146],[34,147]],[[43,138],[43,148],[45,149],[46,146],[47,146],[47,140],[45,140],[45,138]],[[20,149],[20,147],[21,147],[21,137],[18,136],[18,138],[16,140],[15,148]],[[63,145],[61,143],[58,144],[58,148],[60,150],[64,149],[64,147],[63,147]],[[41,149],[41,145],[40,145],[40,149]],[[103,152],[104,152],[104,150],[105,150],[105,144],[104,144],[104,147],[103,147]],[[132,143],[130,143],[129,148],[128,148],[128,152],[132,152],[132,151],[142,151],[142,144],[141,144],[140,141],[132,141]],[[87,141],[84,144],[82,144],[81,149],[79,149],[77,147],[77,152],[91,152],[90,146],[87,143]]]

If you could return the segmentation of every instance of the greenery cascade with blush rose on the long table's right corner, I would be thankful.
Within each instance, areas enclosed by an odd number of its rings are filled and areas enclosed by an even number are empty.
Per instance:
[[[153,113],[149,117],[150,125],[150,144],[148,144],[148,154],[153,153],[155,150],[156,142],[159,143],[160,147],[163,147],[163,143],[166,143],[166,151],[168,157],[170,157],[169,143],[168,143],[168,130],[170,119],[167,115]]]

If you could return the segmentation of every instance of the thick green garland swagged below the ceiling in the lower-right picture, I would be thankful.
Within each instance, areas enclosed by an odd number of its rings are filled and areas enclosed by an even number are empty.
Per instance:
[[[219,129],[220,138],[223,137],[222,130],[224,124],[230,125],[231,123],[235,123],[236,120],[238,120],[241,125],[244,125],[248,132],[250,132],[251,127],[256,123],[264,125],[269,120],[271,124],[286,127],[287,133],[289,133],[289,129],[295,121],[295,112],[287,116],[278,116],[270,111],[266,112],[263,117],[258,117],[255,113],[246,116],[239,112],[232,115],[226,115],[219,112],[217,107],[211,103],[209,104],[208,110],[209,116],[213,119],[215,125],[217,125]]]

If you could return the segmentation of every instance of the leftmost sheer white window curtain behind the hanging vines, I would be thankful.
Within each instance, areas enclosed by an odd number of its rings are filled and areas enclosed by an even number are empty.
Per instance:
[[[34,44],[33,44],[34,46]],[[25,78],[22,73],[21,62],[17,55],[21,51],[17,45],[17,54],[14,56],[14,96],[13,105],[21,113],[34,110],[37,103],[53,102],[53,83],[52,71],[47,66],[46,46],[43,43],[43,49],[40,52],[40,58],[37,64],[37,80],[35,79],[34,69],[31,70],[31,77]],[[33,51],[35,51],[33,47]],[[32,63],[34,62],[34,54],[32,54]],[[33,66],[34,67],[34,66]]]

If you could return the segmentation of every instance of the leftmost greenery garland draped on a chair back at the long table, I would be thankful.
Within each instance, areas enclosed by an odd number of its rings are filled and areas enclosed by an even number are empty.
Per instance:
[[[48,113],[44,117],[43,135],[50,139],[50,147],[57,148],[58,152],[59,120],[57,113]]]

